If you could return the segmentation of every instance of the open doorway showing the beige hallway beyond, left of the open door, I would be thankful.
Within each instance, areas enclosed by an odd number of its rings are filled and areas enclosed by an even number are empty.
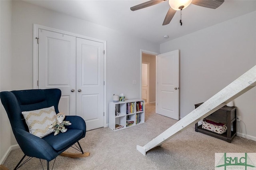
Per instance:
[[[142,51],[141,59],[141,99],[145,107],[156,105],[156,54]],[[154,109],[155,110],[155,109]]]

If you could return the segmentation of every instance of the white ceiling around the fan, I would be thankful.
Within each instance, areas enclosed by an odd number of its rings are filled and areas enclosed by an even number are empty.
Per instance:
[[[31,4],[68,14],[126,34],[163,43],[196,32],[209,26],[256,11],[256,0],[225,0],[213,10],[190,4],[177,11],[170,24],[162,26],[168,9],[168,0],[148,8],[131,11],[130,7],[147,0],[24,0]],[[168,39],[163,36],[168,35]]]

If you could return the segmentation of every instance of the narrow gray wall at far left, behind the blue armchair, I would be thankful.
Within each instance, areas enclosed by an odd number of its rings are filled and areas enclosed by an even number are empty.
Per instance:
[[[11,90],[12,79],[12,2],[0,1],[0,91]],[[10,122],[2,104],[0,105],[0,161],[12,145]],[[15,139],[14,139],[15,140]],[[0,162],[0,163],[1,163]]]

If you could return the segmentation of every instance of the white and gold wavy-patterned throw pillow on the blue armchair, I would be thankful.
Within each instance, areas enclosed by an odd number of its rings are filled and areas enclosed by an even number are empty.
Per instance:
[[[34,111],[24,111],[22,115],[26,119],[31,134],[43,138],[54,131],[53,128],[49,129],[50,125],[57,121],[54,106]]]

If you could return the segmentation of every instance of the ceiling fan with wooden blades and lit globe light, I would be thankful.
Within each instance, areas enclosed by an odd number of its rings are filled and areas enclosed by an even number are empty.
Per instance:
[[[142,8],[146,8],[149,6],[159,4],[164,1],[166,1],[166,0],[150,0],[150,1],[144,2],[142,4],[133,6],[130,9],[132,11],[136,11],[136,10],[140,10]],[[170,8],[164,18],[163,26],[170,23],[174,14],[176,13],[176,11],[180,10],[180,12],[181,12],[181,10],[185,9],[190,4],[194,4],[194,5],[198,5],[198,6],[202,6],[202,7],[206,7],[206,8],[216,9],[223,2],[224,2],[224,0],[169,0]],[[180,25],[182,25],[181,16],[180,16]]]

